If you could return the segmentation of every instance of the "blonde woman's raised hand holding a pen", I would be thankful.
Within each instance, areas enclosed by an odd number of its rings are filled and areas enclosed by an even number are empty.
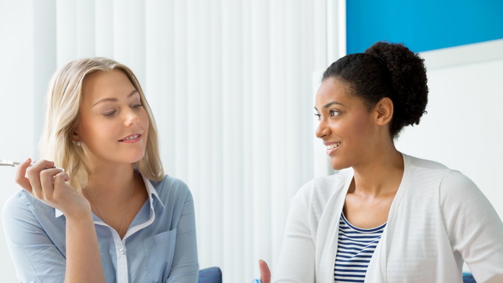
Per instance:
[[[54,162],[39,160],[30,167],[31,159],[18,166],[16,183],[34,197],[56,209],[68,217],[79,217],[91,214],[89,201],[66,182],[68,174],[54,166]],[[28,178],[25,177],[28,175]]]

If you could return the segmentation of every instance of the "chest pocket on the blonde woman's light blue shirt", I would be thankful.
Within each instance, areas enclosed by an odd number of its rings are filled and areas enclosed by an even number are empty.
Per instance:
[[[145,263],[149,282],[165,282],[170,274],[177,229],[143,239]]]

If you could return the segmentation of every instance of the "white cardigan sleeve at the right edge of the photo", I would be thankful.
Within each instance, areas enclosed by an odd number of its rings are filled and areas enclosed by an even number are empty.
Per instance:
[[[503,223],[489,200],[458,171],[446,173],[440,199],[453,252],[478,283],[503,282]]]

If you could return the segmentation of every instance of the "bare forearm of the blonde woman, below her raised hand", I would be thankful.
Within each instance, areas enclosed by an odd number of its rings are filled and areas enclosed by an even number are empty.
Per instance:
[[[66,219],[65,282],[105,282],[91,213]]]

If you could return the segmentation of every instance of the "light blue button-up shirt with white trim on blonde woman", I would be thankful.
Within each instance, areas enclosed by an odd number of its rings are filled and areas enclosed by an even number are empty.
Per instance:
[[[173,177],[143,177],[148,199],[121,240],[93,215],[107,282],[197,282],[194,203],[187,185]],[[66,219],[20,190],[3,209],[2,220],[17,276],[22,282],[63,282]]]

